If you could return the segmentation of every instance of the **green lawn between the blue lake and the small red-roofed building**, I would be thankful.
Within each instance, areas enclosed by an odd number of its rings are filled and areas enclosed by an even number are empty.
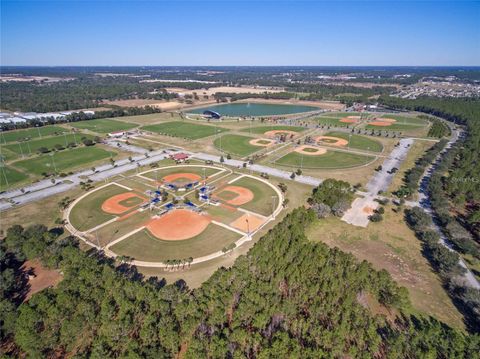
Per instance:
[[[196,140],[199,138],[212,136],[215,133],[228,131],[222,127],[198,125],[186,121],[171,121],[157,125],[143,126],[142,130],[156,132],[161,135],[188,138],[190,140]]]

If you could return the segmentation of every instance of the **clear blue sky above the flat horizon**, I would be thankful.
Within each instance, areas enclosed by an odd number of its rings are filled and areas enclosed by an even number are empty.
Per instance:
[[[480,65],[480,2],[4,1],[2,65]]]

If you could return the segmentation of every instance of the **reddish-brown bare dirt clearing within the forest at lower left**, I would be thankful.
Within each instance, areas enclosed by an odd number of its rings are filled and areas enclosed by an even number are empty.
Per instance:
[[[62,280],[59,271],[45,268],[38,259],[26,261],[22,270],[29,274],[29,290],[25,296],[25,301],[45,288],[55,287]]]

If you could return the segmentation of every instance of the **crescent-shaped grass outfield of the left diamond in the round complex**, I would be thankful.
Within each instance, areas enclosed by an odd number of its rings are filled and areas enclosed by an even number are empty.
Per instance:
[[[112,219],[115,216],[103,212],[102,204],[108,198],[125,192],[128,192],[125,188],[112,184],[90,193],[72,208],[70,223],[76,229],[85,231]]]

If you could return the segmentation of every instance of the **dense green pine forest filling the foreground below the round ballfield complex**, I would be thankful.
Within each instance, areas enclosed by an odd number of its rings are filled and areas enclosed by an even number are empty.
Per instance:
[[[2,341],[29,357],[478,358],[478,335],[409,314],[386,271],[310,242],[316,217],[294,210],[193,291],[82,252],[58,229],[11,227],[0,243]],[[20,304],[15,268],[35,257],[63,280]]]

